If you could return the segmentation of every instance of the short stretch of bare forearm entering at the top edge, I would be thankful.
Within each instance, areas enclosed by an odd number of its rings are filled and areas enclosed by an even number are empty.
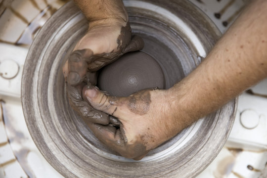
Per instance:
[[[90,22],[128,22],[122,0],[74,0]]]

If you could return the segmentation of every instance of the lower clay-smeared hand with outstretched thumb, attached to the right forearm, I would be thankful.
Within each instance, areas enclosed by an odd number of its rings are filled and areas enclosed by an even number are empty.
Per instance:
[[[172,122],[167,93],[167,90],[145,89],[129,97],[115,97],[85,86],[84,100],[118,118],[120,123],[119,126],[89,123],[89,128],[101,142],[122,156],[142,159],[185,127],[182,124],[176,127]]]

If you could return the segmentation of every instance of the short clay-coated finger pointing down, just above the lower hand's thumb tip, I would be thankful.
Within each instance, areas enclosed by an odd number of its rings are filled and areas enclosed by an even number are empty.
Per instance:
[[[71,53],[68,60],[68,84],[77,86],[83,82],[92,55],[90,49],[75,50]]]

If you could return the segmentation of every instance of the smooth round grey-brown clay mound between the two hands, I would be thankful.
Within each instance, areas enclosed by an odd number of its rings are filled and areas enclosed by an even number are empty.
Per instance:
[[[100,71],[98,87],[113,96],[129,96],[142,89],[165,89],[165,77],[150,55],[129,52]]]

